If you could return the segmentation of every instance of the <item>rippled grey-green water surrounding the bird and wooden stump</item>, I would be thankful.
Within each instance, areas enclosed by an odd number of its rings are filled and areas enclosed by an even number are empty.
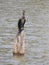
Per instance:
[[[25,55],[13,56],[23,9]],[[49,0],[0,0],[0,65],[49,65]]]

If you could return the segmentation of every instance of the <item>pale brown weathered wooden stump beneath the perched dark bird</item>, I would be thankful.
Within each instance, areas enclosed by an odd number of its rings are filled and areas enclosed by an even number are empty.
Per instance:
[[[15,42],[14,42],[14,55],[24,55],[25,53],[25,46],[24,46],[24,31],[21,32],[20,35],[17,35]]]

